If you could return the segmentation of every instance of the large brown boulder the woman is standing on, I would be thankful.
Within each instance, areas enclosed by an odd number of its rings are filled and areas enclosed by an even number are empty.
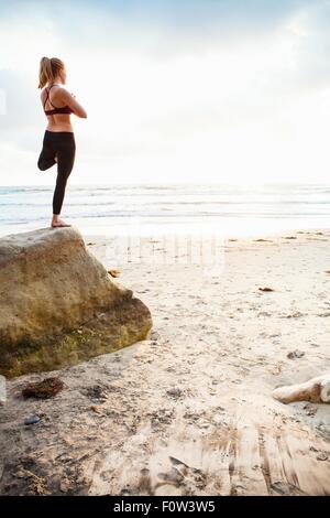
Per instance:
[[[0,374],[54,370],[146,337],[148,309],[74,227],[0,239]]]

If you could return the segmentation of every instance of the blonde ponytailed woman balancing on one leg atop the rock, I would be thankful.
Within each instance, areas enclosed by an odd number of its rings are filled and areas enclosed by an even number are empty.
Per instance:
[[[63,61],[57,57],[42,57],[40,62],[38,88],[41,101],[48,119],[43,149],[37,166],[41,171],[52,168],[57,162],[57,179],[53,196],[52,228],[69,227],[61,219],[67,179],[73,170],[76,153],[75,134],[70,122],[70,114],[82,119],[87,114],[62,85],[66,82],[66,69]]]

